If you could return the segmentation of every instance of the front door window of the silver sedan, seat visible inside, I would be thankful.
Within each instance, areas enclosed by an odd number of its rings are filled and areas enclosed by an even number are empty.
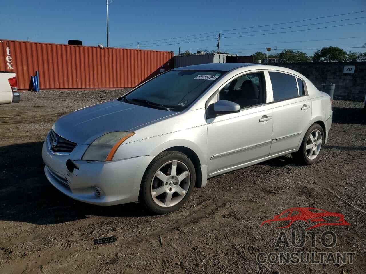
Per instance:
[[[220,100],[240,105],[240,108],[266,102],[266,87],[263,72],[240,76],[225,85],[219,94]]]

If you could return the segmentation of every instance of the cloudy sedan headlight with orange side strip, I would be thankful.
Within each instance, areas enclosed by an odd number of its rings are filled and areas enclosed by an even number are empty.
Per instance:
[[[86,149],[82,160],[110,161],[113,159],[117,148],[134,132],[119,131],[104,134],[92,142]]]

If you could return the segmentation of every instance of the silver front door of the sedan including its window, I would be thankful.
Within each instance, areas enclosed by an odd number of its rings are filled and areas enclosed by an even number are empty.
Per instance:
[[[241,109],[207,119],[209,175],[269,155],[273,119],[265,87],[264,72],[255,72],[230,80],[220,90],[219,100],[238,103]]]

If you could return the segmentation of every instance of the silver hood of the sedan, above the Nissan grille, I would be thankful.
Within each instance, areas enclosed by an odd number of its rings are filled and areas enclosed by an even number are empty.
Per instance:
[[[173,114],[176,112],[112,100],[64,115],[55,122],[52,129],[77,144],[91,144],[105,133],[130,131]]]

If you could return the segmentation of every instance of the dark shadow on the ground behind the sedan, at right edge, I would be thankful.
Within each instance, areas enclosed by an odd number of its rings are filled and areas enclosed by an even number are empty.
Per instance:
[[[333,107],[333,123],[366,125],[366,111],[350,107]]]

